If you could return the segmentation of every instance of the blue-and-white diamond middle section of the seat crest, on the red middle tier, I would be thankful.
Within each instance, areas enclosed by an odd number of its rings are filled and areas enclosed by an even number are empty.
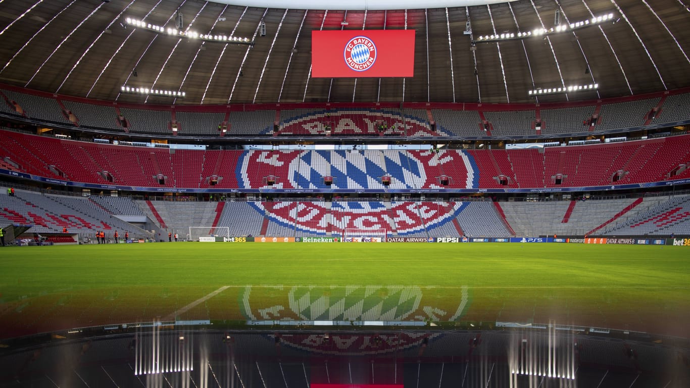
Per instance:
[[[477,188],[471,155],[440,151],[246,151],[237,163],[240,188],[317,188],[324,191]],[[273,184],[268,184],[272,177]],[[331,185],[324,177],[331,177]],[[390,177],[386,186],[382,177]],[[443,185],[440,177],[447,177]]]

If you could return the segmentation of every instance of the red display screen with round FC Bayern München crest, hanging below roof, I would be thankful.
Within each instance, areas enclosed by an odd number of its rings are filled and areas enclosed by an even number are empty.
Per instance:
[[[311,32],[311,76],[413,77],[414,30]]]

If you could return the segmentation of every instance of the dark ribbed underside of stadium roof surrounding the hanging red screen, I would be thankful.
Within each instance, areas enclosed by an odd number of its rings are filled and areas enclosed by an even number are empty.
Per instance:
[[[690,86],[690,14],[684,1],[517,0],[415,10],[300,10],[201,0],[5,0],[0,82],[148,104],[513,103],[637,95]],[[126,23],[130,17],[168,28],[179,14],[183,30],[248,37],[254,44],[172,37]],[[556,18],[566,24],[609,14],[613,18],[598,26],[548,37],[471,43],[480,36],[549,29]],[[467,21],[471,35],[465,34]],[[312,30],[362,28],[416,30],[415,76],[309,77]],[[573,84],[598,84],[599,90],[529,95],[535,88]],[[121,94],[124,85],[186,95]]]

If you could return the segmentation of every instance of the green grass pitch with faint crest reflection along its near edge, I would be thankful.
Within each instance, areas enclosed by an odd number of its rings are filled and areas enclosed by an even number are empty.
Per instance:
[[[177,242],[1,252],[2,337],[154,319],[554,319],[690,336],[684,246]]]

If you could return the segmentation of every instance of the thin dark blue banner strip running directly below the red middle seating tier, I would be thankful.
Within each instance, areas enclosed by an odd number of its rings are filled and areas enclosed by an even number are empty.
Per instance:
[[[609,191],[633,190],[635,188],[651,188],[689,184],[690,178],[683,180],[669,180],[663,182],[649,182],[636,184],[618,184],[611,186],[586,187],[548,187],[548,188],[385,188],[385,189],[319,189],[319,188],[172,188],[172,187],[140,187],[117,186],[112,184],[91,184],[57,180],[27,173],[19,173],[0,168],[0,175],[19,177],[36,182],[59,184],[61,186],[95,188],[99,190],[148,191],[159,193],[570,193],[574,191]]]

